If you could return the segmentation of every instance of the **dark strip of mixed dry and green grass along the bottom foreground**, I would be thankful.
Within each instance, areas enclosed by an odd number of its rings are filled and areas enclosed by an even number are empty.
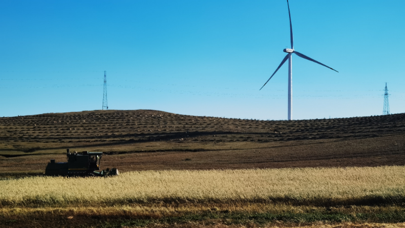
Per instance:
[[[313,207],[182,204],[113,207],[0,208],[5,227],[404,227],[397,206]],[[399,214],[399,216],[398,216]],[[402,215],[400,215],[402,214]],[[366,217],[364,215],[367,215]],[[359,216],[359,217],[357,217]],[[382,217],[385,217],[381,219]],[[315,219],[314,219],[315,218]],[[348,222],[350,221],[350,222]],[[38,224],[39,222],[39,224]],[[379,223],[376,223],[379,222]],[[382,223],[382,222],[391,222]],[[2,225],[0,225],[3,227]]]

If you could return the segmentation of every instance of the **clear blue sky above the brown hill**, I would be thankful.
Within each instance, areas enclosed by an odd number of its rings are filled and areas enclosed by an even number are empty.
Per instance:
[[[405,112],[405,1],[290,0],[293,119]],[[287,2],[0,1],[0,116],[110,109],[287,119]]]

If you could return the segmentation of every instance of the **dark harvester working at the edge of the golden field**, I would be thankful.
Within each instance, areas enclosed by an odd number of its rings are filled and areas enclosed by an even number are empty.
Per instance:
[[[118,169],[100,170],[102,152],[83,151],[77,153],[66,151],[67,162],[55,162],[51,159],[45,169],[45,175],[49,176],[115,176]]]

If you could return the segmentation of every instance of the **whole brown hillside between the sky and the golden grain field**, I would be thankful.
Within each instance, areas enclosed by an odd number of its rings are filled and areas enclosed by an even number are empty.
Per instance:
[[[104,151],[103,167],[234,169],[405,165],[405,113],[302,121],[154,110],[0,118],[0,172],[43,172],[66,148]]]

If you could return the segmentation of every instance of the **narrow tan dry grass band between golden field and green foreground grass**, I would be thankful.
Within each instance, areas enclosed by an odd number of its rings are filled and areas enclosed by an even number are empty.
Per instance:
[[[227,213],[293,213],[305,214],[314,212],[332,212],[342,214],[356,213],[389,213],[392,211],[405,212],[398,206],[350,206],[350,207],[314,207],[293,206],[288,204],[268,203],[203,203],[203,204],[132,204],[126,206],[85,206],[85,207],[2,207],[0,215],[12,216],[99,216],[121,218],[163,218],[167,216],[184,216],[199,212],[227,212]]]

